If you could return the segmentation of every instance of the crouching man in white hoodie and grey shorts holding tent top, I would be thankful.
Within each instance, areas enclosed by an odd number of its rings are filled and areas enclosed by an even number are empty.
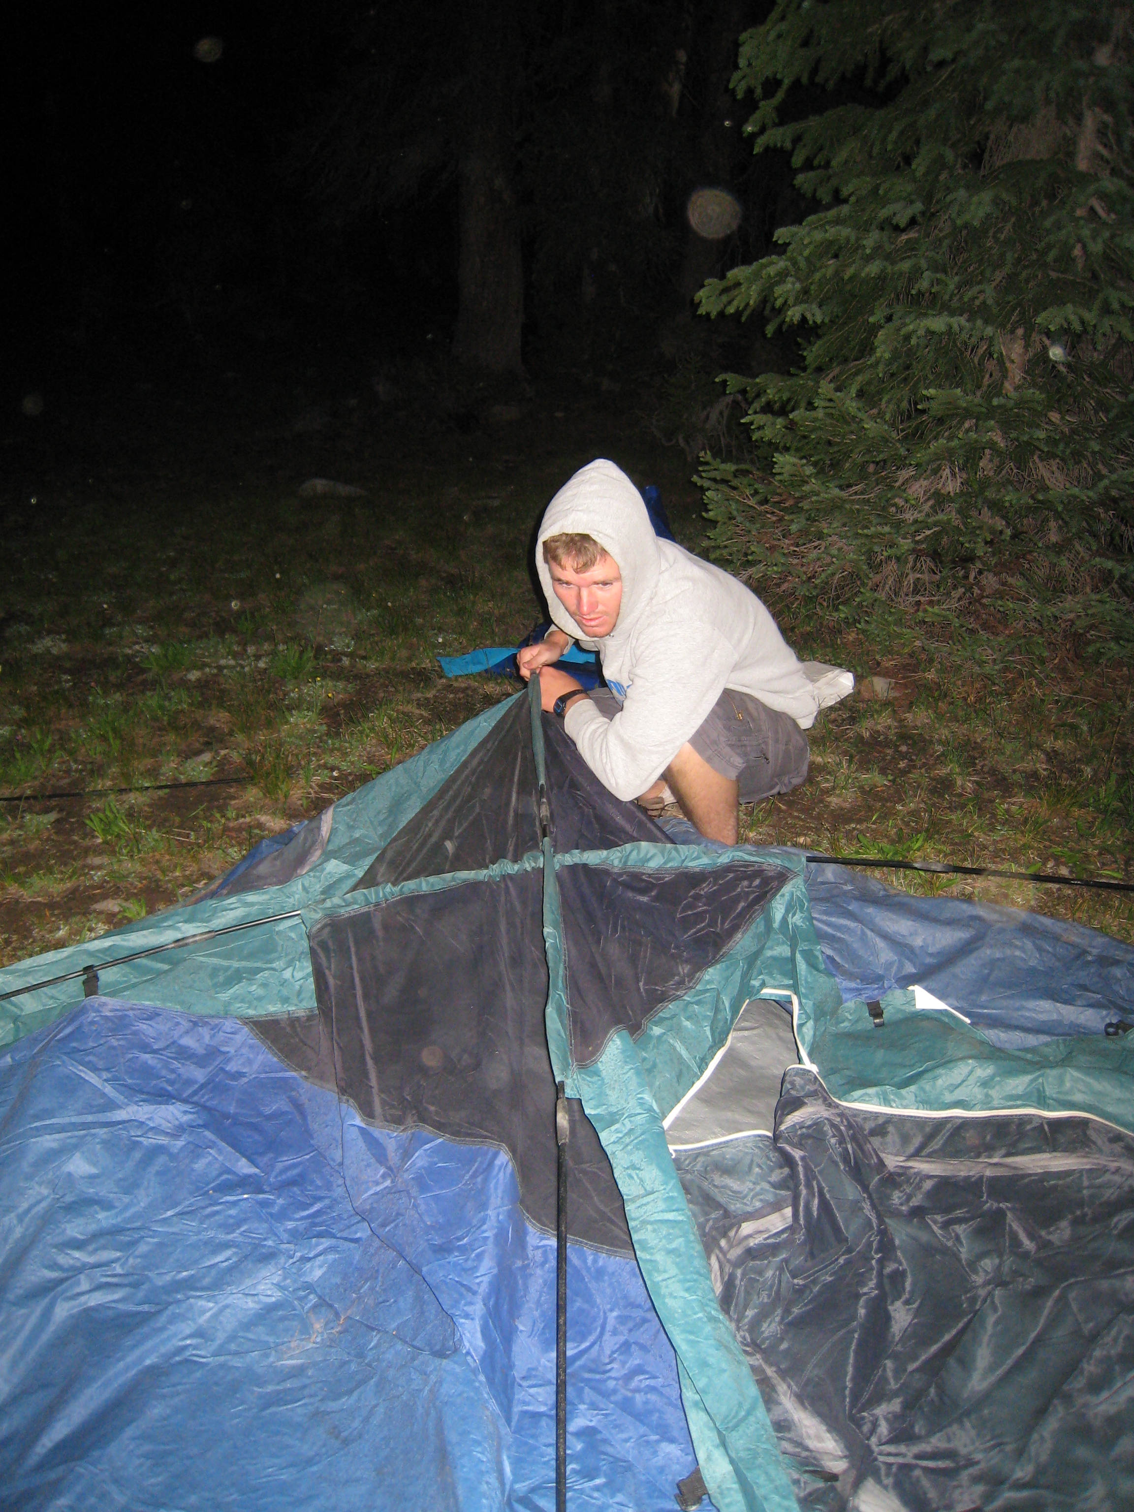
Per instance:
[[[668,786],[708,839],[736,844],[738,804],[807,776],[803,735],[850,673],[800,662],[744,584],[659,540],[614,463],[582,467],[547,505],[535,565],[555,629],[519,655],[543,708],[618,798],[661,809]],[[609,692],[550,664],[597,650]]]

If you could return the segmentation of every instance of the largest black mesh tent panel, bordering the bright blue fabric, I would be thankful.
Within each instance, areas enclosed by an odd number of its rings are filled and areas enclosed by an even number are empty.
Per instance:
[[[520,1202],[555,1228],[555,1080],[544,1007],[543,878],[526,871],[410,894],[311,931],[318,1016],[260,1036],[384,1128],[496,1145]],[[572,1237],[629,1252],[599,1137],[572,1107]]]

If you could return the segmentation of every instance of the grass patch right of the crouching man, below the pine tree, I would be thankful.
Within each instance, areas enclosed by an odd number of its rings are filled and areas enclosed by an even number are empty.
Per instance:
[[[853,661],[853,658],[848,658]],[[1131,880],[1126,674],[924,637],[875,647],[895,697],[827,711],[807,783],[758,806],[745,838],[832,854]],[[865,670],[865,668],[863,668]],[[1107,738],[1110,732],[1110,739]],[[995,878],[878,872],[919,894],[978,897],[1134,940],[1134,897]]]

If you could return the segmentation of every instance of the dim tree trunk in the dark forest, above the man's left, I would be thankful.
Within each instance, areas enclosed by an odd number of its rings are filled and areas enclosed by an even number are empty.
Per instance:
[[[460,165],[458,308],[454,357],[485,372],[522,372],[523,254],[511,174],[491,130]]]

